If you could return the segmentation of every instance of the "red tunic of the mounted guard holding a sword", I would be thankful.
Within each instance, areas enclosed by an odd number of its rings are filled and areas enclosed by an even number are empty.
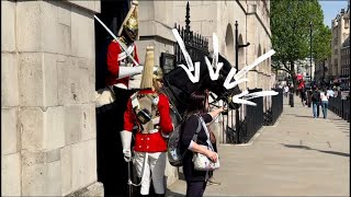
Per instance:
[[[111,42],[107,48],[109,76],[106,77],[106,85],[123,83],[126,86],[128,86],[129,77],[117,79],[120,73],[120,65],[121,65],[121,61],[118,61],[118,55],[121,53],[123,53],[123,50],[120,44],[115,40]],[[136,54],[136,46],[134,46],[133,57],[137,62],[139,62],[138,56]]]

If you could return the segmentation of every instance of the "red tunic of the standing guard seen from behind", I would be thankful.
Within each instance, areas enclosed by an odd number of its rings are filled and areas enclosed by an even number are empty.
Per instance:
[[[151,90],[141,90],[140,93],[155,93]],[[138,152],[166,152],[167,142],[161,132],[169,134],[173,130],[172,119],[169,115],[169,101],[165,94],[159,94],[159,101],[157,104],[160,113],[160,129],[155,134],[141,134],[137,132],[135,137],[135,151]],[[132,107],[132,100],[127,103],[127,108],[124,113],[124,130],[131,131],[136,120],[135,113]]]

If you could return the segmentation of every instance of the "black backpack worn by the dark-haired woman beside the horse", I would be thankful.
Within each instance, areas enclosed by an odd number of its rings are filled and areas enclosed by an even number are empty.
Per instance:
[[[200,119],[197,118],[197,120],[199,120],[197,129],[193,136],[193,141],[197,140],[197,135],[201,130]],[[167,155],[168,155],[169,163],[173,166],[183,165],[183,158],[188,151],[188,149],[185,149],[185,151],[181,153],[181,150],[180,150],[180,140],[181,140],[183,128],[184,128],[184,123],[182,121],[174,128],[173,132],[171,132],[171,135],[168,138]]]

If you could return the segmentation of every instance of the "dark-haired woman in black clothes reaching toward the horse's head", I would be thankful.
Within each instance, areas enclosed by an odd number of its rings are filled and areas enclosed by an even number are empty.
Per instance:
[[[208,171],[196,171],[192,162],[193,153],[199,152],[205,154],[212,161],[217,161],[217,154],[214,151],[206,149],[207,135],[204,128],[201,126],[201,130],[197,135],[197,140],[193,141],[195,135],[199,116],[202,116],[205,123],[212,121],[223,108],[214,109],[213,112],[204,114],[205,108],[205,93],[194,92],[191,94],[191,102],[186,109],[186,120],[184,121],[182,135],[181,135],[181,151],[186,151],[183,158],[183,173],[186,181],[186,197],[202,197],[206,182],[208,179]]]

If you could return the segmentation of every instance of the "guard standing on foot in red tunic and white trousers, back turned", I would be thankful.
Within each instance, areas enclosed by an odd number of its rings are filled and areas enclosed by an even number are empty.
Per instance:
[[[131,161],[132,129],[138,127],[135,137],[135,165],[140,181],[140,194],[148,195],[152,179],[155,193],[163,196],[167,141],[173,130],[168,97],[159,93],[161,77],[154,74],[154,47],[147,47],[140,91],[133,94],[124,113],[122,135],[123,153]],[[160,74],[159,70],[156,73]]]

